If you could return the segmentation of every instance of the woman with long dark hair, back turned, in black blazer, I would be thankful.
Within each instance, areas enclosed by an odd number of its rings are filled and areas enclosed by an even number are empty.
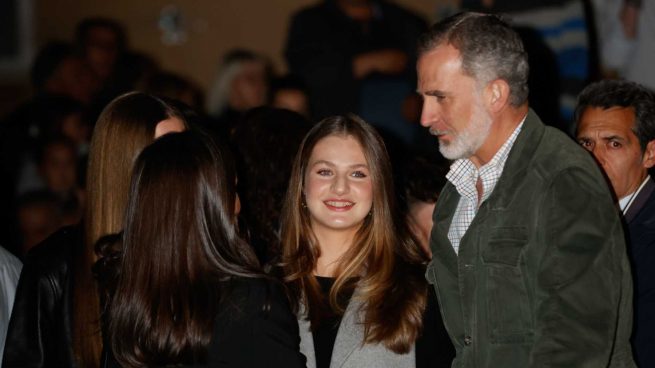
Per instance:
[[[106,252],[99,263],[117,275],[109,283],[110,366],[305,366],[283,285],[261,273],[238,236],[226,154],[185,132],[136,161],[118,256]]]

